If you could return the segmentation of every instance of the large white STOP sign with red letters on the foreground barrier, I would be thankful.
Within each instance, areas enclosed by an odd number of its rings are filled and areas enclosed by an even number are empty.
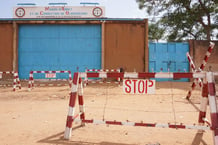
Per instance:
[[[123,91],[125,94],[154,94],[155,80],[124,79]]]

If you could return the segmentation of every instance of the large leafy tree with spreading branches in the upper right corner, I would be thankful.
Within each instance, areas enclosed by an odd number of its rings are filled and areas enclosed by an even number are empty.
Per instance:
[[[160,15],[168,40],[216,38],[218,0],[136,0],[149,15]]]

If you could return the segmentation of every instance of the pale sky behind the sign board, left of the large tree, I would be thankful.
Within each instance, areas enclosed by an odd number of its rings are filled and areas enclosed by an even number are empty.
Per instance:
[[[82,6],[80,2],[99,3],[105,6],[108,18],[147,18],[145,10],[140,10],[136,0],[0,0],[0,18],[12,18],[13,7],[18,3],[35,3],[48,6],[48,3],[67,3],[67,6]]]

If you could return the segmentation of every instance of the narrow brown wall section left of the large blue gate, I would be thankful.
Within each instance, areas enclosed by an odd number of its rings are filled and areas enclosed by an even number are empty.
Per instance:
[[[13,70],[13,25],[0,24],[0,71]]]

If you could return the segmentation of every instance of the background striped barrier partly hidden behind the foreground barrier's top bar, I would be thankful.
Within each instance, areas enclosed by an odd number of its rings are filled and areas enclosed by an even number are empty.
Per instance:
[[[120,72],[120,69],[86,69],[85,70],[86,73],[88,72]],[[121,79],[120,78],[116,78],[117,84],[120,84]],[[84,86],[88,85],[89,83],[95,84],[95,83],[112,83],[109,81],[102,81],[102,80],[89,80],[87,77],[84,78]]]

